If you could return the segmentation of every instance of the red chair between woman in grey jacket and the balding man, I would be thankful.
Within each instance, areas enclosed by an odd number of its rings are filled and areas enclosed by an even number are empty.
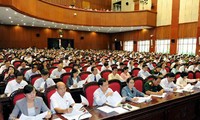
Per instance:
[[[50,108],[50,103],[51,103],[51,96],[56,92],[56,85],[48,87],[45,92],[44,92],[44,96],[45,96],[45,102],[48,106],[48,108]],[[50,108],[51,109],[51,108]]]

